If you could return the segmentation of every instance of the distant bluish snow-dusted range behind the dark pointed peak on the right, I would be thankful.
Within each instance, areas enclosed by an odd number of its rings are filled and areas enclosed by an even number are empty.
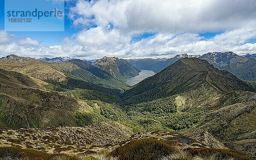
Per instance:
[[[181,54],[169,59],[128,59],[127,61],[139,69],[153,70],[155,73],[159,73],[178,59],[186,57],[205,59],[210,64],[214,65],[214,67],[217,67],[220,70],[227,70],[240,79],[256,81],[256,54],[239,56],[233,52],[212,52],[202,56]]]

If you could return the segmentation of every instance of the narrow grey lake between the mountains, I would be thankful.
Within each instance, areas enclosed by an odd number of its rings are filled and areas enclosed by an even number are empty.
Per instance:
[[[154,74],[156,74],[156,73],[154,73],[152,70],[141,70],[141,72],[139,73],[138,76],[134,76],[129,79],[125,79],[127,81],[125,83],[130,86],[133,86],[133,85],[139,83],[140,81],[142,81],[143,79],[153,76]]]

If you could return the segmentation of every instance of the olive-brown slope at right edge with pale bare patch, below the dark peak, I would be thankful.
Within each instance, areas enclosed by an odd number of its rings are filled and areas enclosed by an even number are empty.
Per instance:
[[[255,157],[256,93],[232,91],[207,93],[203,97],[193,98],[190,93],[183,93],[176,98],[180,107],[200,113],[200,121],[192,129],[206,129],[227,147]]]

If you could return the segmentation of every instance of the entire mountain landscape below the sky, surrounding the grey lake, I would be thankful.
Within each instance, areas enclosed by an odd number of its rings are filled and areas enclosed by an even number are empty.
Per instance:
[[[253,63],[233,52],[127,61],[104,57],[92,64],[3,57],[0,158],[17,152],[105,152],[119,160],[174,153],[193,160],[253,160]],[[132,87],[124,84],[146,67],[159,72]]]

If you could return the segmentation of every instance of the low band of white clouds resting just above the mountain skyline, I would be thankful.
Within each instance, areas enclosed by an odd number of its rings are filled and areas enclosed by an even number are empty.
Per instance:
[[[9,35],[6,35],[9,36]],[[131,35],[123,34],[118,29],[90,28],[66,38],[62,45],[42,47],[41,45],[20,45],[11,42],[0,45],[0,53],[17,54],[19,56],[56,57],[69,56],[80,59],[97,59],[103,56],[120,58],[164,58],[176,54],[192,55],[214,51],[234,51],[238,54],[255,53],[256,43],[247,43],[256,36],[256,29],[240,28],[217,34],[211,39],[205,39],[199,34],[162,34],[141,39],[131,43]]]

